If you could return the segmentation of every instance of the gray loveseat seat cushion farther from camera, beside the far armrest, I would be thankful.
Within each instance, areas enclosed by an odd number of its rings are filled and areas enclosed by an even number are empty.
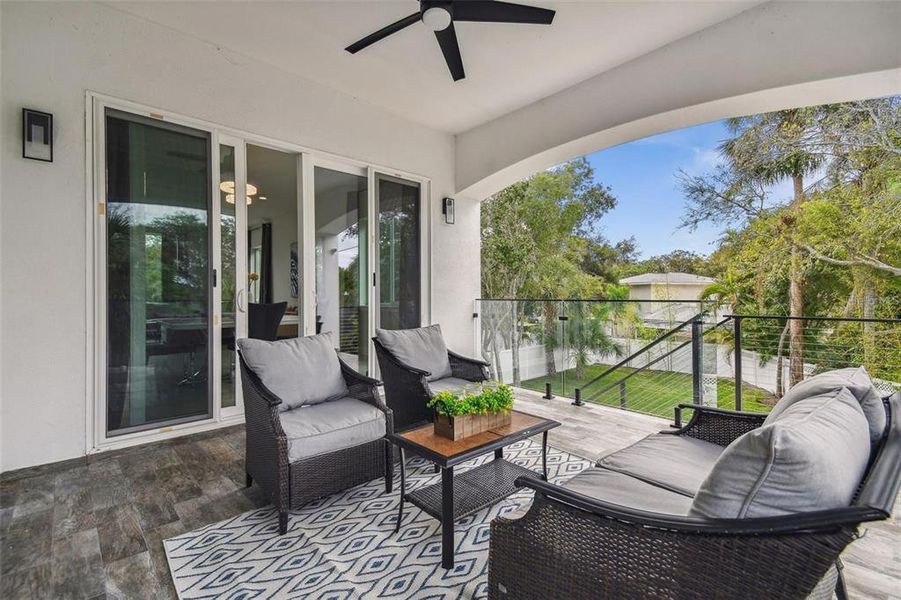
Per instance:
[[[716,444],[657,433],[601,458],[598,466],[691,497],[722,452]]]

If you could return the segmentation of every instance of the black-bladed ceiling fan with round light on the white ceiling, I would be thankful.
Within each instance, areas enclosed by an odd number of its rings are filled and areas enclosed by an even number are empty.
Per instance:
[[[375,33],[370,33],[345,50],[356,54],[363,48],[371,46],[417,21],[422,21],[435,32],[451,77],[454,78],[454,81],[459,81],[466,77],[466,73],[463,71],[463,58],[460,56],[457,33],[454,31],[455,21],[550,25],[554,20],[554,14],[555,11],[546,8],[500,2],[499,0],[419,0],[417,12],[387,27],[382,27]]]

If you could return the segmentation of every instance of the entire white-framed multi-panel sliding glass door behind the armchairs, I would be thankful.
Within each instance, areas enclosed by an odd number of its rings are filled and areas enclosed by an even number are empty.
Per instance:
[[[331,332],[369,374],[426,321],[422,182],[93,102],[95,447],[240,419],[240,338]]]

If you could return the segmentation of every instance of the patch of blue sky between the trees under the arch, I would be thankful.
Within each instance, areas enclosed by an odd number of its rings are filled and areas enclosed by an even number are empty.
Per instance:
[[[715,250],[723,227],[679,229],[685,201],[676,174],[711,171],[719,160],[716,148],[728,137],[725,123],[714,121],[589,154],[596,181],[610,186],[618,200],[600,221],[604,237],[615,243],[634,236],[642,258],[676,249],[704,255]],[[780,187],[773,190],[776,198]]]

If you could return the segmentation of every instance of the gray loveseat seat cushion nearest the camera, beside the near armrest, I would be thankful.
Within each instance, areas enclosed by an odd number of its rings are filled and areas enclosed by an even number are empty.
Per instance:
[[[688,496],[600,467],[582,471],[563,487],[604,502],[648,512],[685,516],[691,507]]]

